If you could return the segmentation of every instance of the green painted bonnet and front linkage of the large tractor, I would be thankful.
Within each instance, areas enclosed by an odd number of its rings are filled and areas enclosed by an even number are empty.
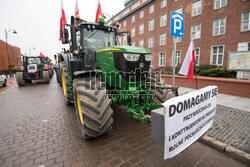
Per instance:
[[[86,27],[86,25],[93,26],[100,25],[100,23],[81,23],[79,27]],[[115,28],[107,25],[104,26]],[[110,89],[108,96],[112,100],[112,103],[126,106],[130,117],[143,122],[148,122],[149,116],[146,113],[163,106],[149,101],[151,88],[146,87],[146,80],[141,82],[126,82],[123,79],[121,73],[115,68],[115,52],[136,54],[151,54],[151,52],[148,49],[133,46],[110,46],[96,51],[98,69],[101,71],[102,81],[106,83],[107,89]],[[73,54],[68,54],[68,58],[71,60]],[[139,67],[143,68],[144,64],[141,63]],[[73,78],[70,75],[70,89],[71,94],[73,95],[72,79]]]

